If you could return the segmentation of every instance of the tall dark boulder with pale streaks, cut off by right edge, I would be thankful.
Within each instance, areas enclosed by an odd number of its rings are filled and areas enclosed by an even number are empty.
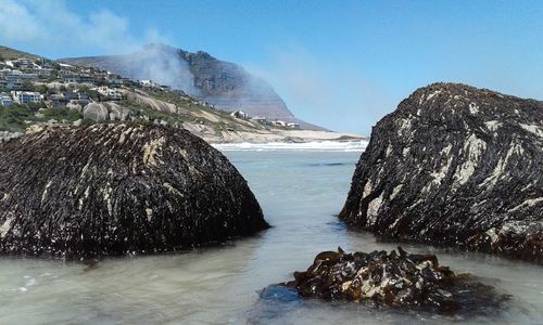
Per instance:
[[[418,89],[374,128],[340,218],[543,263],[543,102],[454,83]]]

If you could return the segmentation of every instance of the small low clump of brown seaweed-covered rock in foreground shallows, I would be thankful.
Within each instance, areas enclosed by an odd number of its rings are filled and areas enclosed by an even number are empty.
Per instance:
[[[304,272],[286,283],[303,297],[371,300],[406,309],[457,313],[476,308],[500,308],[508,299],[468,274],[455,275],[434,255],[392,250],[345,253],[323,251]]]

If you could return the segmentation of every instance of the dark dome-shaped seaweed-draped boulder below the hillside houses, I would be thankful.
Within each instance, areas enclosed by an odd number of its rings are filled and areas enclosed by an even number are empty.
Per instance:
[[[188,131],[48,127],[0,146],[0,252],[157,252],[267,227],[245,180]]]

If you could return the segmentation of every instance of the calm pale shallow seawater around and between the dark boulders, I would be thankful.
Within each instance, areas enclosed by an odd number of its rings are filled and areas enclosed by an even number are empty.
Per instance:
[[[0,324],[543,324],[543,268],[472,252],[435,252],[513,300],[463,320],[318,300],[262,301],[258,291],[292,278],[321,250],[393,249],[333,216],[350,187],[353,152],[225,152],[274,225],[254,237],[191,252],[78,262],[0,259]]]

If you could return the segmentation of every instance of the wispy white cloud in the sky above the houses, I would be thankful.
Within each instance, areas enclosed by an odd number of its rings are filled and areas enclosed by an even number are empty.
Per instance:
[[[136,37],[127,18],[105,9],[81,15],[62,0],[2,0],[0,5],[1,43],[124,54],[157,41],[166,41],[157,30],[150,28]]]

